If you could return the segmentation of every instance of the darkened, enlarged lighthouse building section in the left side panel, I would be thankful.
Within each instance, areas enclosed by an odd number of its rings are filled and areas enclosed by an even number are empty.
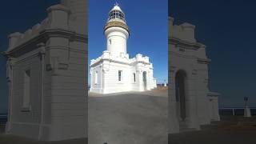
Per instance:
[[[87,1],[62,0],[25,33],[9,36],[7,134],[87,137]]]

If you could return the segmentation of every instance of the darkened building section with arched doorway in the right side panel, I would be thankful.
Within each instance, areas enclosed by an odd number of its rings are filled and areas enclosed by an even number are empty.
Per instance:
[[[218,121],[218,93],[208,88],[206,46],[198,42],[195,26],[174,25],[169,18],[169,133],[200,130]]]

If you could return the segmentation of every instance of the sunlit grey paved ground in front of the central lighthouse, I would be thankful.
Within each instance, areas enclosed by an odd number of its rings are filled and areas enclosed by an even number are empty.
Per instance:
[[[167,143],[167,90],[90,94],[89,143]]]

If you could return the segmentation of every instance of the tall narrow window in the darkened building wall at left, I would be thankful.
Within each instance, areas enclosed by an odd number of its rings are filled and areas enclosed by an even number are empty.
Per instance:
[[[26,70],[24,73],[24,91],[22,99],[22,107],[30,107],[30,70]]]

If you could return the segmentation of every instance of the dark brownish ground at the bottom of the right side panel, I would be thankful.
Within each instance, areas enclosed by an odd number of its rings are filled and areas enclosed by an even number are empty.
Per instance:
[[[225,116],[221,122],[202,126],[202,130],[170,134],[171,144],[255,144],[256,117]]]

